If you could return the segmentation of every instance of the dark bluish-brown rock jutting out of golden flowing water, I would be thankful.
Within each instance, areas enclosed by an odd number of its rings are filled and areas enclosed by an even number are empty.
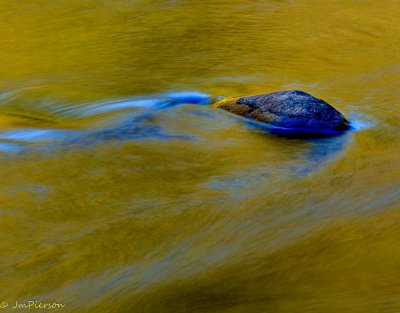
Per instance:
[[[282,128],[345,131],[347,119],[325,101],[298,90],[227,98],[214,104],[231,113]]]

